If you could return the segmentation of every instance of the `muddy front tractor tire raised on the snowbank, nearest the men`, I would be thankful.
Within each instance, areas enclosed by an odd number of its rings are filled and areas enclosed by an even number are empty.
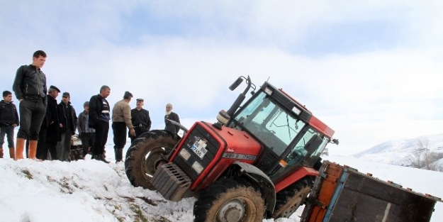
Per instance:
[[[130,183],[134,187],[155,190],[151,184],[152,175],[159,165],[167,162],[165,157],[179,139],[178,135],[159,130],[143,133],[135,139],[125,157],[125,171]]]

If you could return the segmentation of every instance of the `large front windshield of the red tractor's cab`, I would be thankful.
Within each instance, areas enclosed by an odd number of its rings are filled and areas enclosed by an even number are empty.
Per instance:
[[[281,155],[298,132],[303,121],[286,111],[263,91],[257,93],[242,111],[235,116],[237,124],[255,135],[264,145]]]

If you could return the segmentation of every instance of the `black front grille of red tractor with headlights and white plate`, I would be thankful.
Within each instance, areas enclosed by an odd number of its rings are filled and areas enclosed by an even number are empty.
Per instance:
[[[208,150],[203,158],[199,157],[196,152],[191,150],[192,145],[201,139],[207,141],[206,150]],[[181,155],[176,155],[172,162],[178,165],[182,170],[184,170],[189,178],[195,181],[198,177],[198,173],[192,168],[194,162],[198,162],[203,167],[203,169],[205,169],[209,165],[209,163],[213,161],[213,158],[215,157],[215,154],[218,152],[219,148],[220,143],[218,143],[218,141],[215,140],[215,138],[203,127],[197,125],[194,130],[189,133],[188,138],[186,138],[184,145],[181,147],[181,149],[186,149],[186,151],[188,151],[191,156],[187,160],[185,160],[184,157],[182,157]]]

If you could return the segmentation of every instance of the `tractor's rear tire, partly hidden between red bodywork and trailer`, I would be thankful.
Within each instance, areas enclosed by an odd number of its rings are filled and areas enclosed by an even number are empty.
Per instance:
[[[272,218],[289,218],[308,196],[313,182],[303,178],[276,194],[276,206]]]

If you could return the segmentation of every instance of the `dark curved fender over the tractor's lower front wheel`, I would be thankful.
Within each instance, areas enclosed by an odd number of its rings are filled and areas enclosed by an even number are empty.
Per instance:
[[[242,174],[247,175],[252,182],[259,185],[267,201],[267,211],[273,213],[276,203],[275,187],[267,174],[264,174],[262,170],[246,162],[235,161],[233,164],[239,166]],[[255,177],[252,177],[252,174],[254,174]]]

